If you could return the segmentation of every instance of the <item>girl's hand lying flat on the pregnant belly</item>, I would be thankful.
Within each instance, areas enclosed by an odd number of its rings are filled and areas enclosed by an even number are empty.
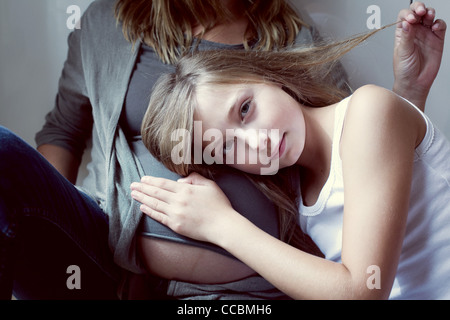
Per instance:
[[[230,215],[236,214],[217,184],[197,173],[178,181],[143,177],[131,184],[131,190],[133,199],[142,203],[143,213],[200,241],[214,243]]]

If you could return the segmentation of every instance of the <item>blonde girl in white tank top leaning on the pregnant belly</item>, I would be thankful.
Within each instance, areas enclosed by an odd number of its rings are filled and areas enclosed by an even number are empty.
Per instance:
[[[445,27],[437,29],[430,32],[442,44]],[[143,212],[224,248],[292,298],[450,298],[449,142],[391,91],[364,86],[345,98],[325,81],[329,62],[365,38],[182,59],[155,87],[142,133],[157,159],[188,176],[132,184]],[[295,214],[283,206],[286,201],[298,205],[302,229],[326,259],[289,245],[295,229],[282,219],[288,243],[263,232],[214,182],[192,173],[214,176],[224,166],[175,163],[180,140],[171,134],[186,129],[197,137],[194,121],[200,121],[203,141],[189,143],[201,143],[203,151],[214,150],[214,159],[249,173],[282,209],[280,217]],[[205,139],[207,132],[225,138]],[[183,149],[192,151],[191,159],[195,143]],[[242,145],[246,161],[239,162]],[[234,161],[227,162],[230,153]],[[264,157],[277,161],[276,177],[257,176],[264,164],[248,161]],[[280,184],[288,176],[298,179],[299,189]],[[291,191],[299,191],[297,203]]]

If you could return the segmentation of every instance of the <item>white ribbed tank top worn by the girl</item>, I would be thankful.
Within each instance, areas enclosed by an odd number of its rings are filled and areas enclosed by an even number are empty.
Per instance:
[[[350,98],[336,107],[330,175],[317,202],[306,207],[300,197],[303,231],[335,262],[341,262],[344,215],[339,143]],[[406,235],[390,299],[450,299],[450,143],[417,110],[427,132],[416,148]]]

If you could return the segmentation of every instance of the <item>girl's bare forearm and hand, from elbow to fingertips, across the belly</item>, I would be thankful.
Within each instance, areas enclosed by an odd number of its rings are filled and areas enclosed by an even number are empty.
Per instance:
[[[324,280],[326,275],[342,280],[347,275],[343,265],[304,253],[257,228],[229,205],[211,180],[191,174],[182,181],[143,177],[131,185],[132,197],[151,218],[179,234],[223,247],[291,297],[344,295],[335,295]]]

